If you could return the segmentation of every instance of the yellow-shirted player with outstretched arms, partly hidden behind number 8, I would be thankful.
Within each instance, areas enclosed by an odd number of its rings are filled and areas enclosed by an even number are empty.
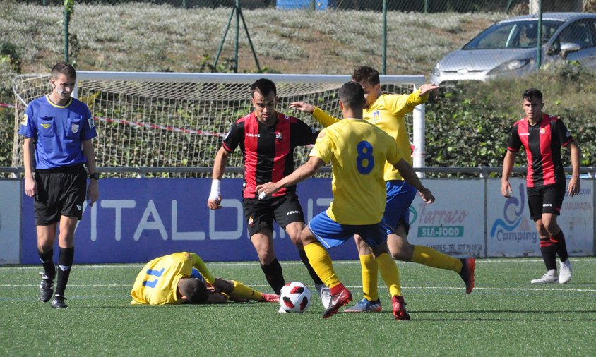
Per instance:
[[[419,104],[424,104],[429,93],[439,89],[438,85],[424,84],[409,95],[381,93],[379,71],[368,66],[357,67],[352,72],[352,80],[362,85],[366,106],[362,118],[391,135],[404,159],[412,164],[410,140],[405,126],[405,115],[411,113]],[[330,126],[340,121],[321,109],[306,102],[292,102],[290,108],[312,114],[323,126]],[[453,258],[427,246],[413,245],[407,241],[410,230],[410,210],[416,196],[416,188],[403,180],[400,172],[392,164],[385,164],[385,184],[387,190],[385,214],[383,219],[388,225],[387,246],[397,260],[416,262],[429,267],[452,270],[460,275],[465,283],[465,292],[470,294],[474,288],[474,258]],[[383,274],[386,265],[395,265],[391,259],[378,260],[371,254],[362,238],[354,236],[362,265],[362,290],[364,297],[347,313],[380,312],[381,299],[377,290],[377,275]]]

